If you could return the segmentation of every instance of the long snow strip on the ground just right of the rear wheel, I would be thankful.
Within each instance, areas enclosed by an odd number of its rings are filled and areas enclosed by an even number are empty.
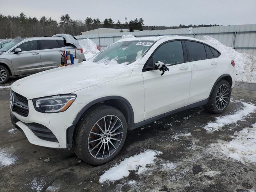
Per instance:
[[[256,106],[253,104],[249,104],[249,103],[245,103],[245,102],[242,102],[242,104],[244,105],[244,108],[242,108],[241,110],[238,110],[235,114],[217,117],[214,122],[209,122],[203,128],[207,132],[217,131],[221,127],[223,127],[227,124],[232,124],[232,123],[236,123],[240,120],[243,120],[246,116],[250,115],[251,113],[253,113],[256,110]]]

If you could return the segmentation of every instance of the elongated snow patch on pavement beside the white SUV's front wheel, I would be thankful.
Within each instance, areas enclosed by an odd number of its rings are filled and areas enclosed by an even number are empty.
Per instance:
[[[105,182],[106,180],[115,181],[120,180],[124,177],[129,176],[132,170],[137,170],[137,174],[141,174],[148,170],[146,165],[154,163],[156,159],[156,155],[162,154],[162,152],[154,151],[154,150],[146,150],[138,155],[134,155],[132,157],[126,158],[119,165],[116,165],[109,170],[107,170],[104,174],[100,176],[100,183]]]

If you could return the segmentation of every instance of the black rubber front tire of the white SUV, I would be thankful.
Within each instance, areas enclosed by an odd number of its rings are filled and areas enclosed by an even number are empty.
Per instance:
[[[103,152],[101,151],[101,154],[103,154],[102,156],[104,156],[104,154],[106,154],[106,158],[97,158],[97,154],[95,157],[95,156],[93,156],[93,154],[90,153],[90,150],[89,150],[89,148],[93,144],[93,143],[92,144],[88,143],[89,140],[91,139],[90,133],[91,133],[91,130],[95,129],[96,127],[98,128],[98,126],[96,126],[96,123],[98,123],[98,121],[100,119],[102,119],[106,116],[109,116],[109,115],[119,118],[120,121],[118,120],[118,122],[121,122],[122,130],[123,130],[122,138],[119,143],[117,143],[117,141],[114,140],[114,142],[118,144],[118,146],[114,152],[111,153],[108,150],[107,152],[104,153],[104,150],[102,150]],[[111,122],[114,122],[114,118],[112,121],[111,120],[112,120],[112,117],[110,120],[108,119],[105,124],[108,124],[109,122],[111,124]],[[103,124],[102,124],[102,127],[103,127]],[[100,129],[98,128],[98,130],[100,130]],[[98,133],[101,134],[101,132],[98,132]],[[118,154],[118,152],[120,152],[122,146],[124,145],[124,141],[126,139],[126,134],[127,134],[127,123],[126,123],[126,119],[125,119],[124,115],[122,114],[122,112],[120,112],[118,109],[116,109],[114,107],[101,104],[101,105],[98,105],[98,106],[95,106],[95,107],[92,107],[91,109],[89,109],[82,116],[80,122],[78,122],[76,131],[75,131],[75,138],[74,138],[74,151],[75,151],[76,155],[79,158],[81,158],[83,161],[85,161],[86,163],[91,164],[91,165],[101,165],[101,164],[104,164],[104,163],[112,160]],[[98,138],[103,138],[103,140],[104,140],[103,134],[102,134],[102,136],[98,136]],[[96,138],[96,139],[98,139],[98,138]],[[103,144],[104,141],[102,141],[102,139],[101,139],[100,142]],[[105,146],[105,144],[104,144],[104,146]],[[100,145],[101,144],[99,144],[99,146]],[[94,146],[96,146],[96,144]],[[109,144],[109,146],[110,146],[110,144]],[[113,146],[112,146],[112,150],[114,150]],[[100,154],[100,156],[101,156],[101,154]]]

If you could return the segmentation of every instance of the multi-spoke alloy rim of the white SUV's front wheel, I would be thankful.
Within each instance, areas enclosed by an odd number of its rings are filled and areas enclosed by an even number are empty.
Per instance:
[[[92,127],[88,138],[90,154],[97,159],[111,156],[123,137],[121,120],[114,115],[104,116]]]

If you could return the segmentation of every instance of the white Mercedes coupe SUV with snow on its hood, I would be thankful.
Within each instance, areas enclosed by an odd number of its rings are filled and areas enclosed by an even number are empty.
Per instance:
[[[14,82],[11,119],[30,143],[74,148],[100,165],[118,154],[127,130],[198,106],[224,112],[235,79],[234,61],[201,40],[127,38],[85,63]]]

